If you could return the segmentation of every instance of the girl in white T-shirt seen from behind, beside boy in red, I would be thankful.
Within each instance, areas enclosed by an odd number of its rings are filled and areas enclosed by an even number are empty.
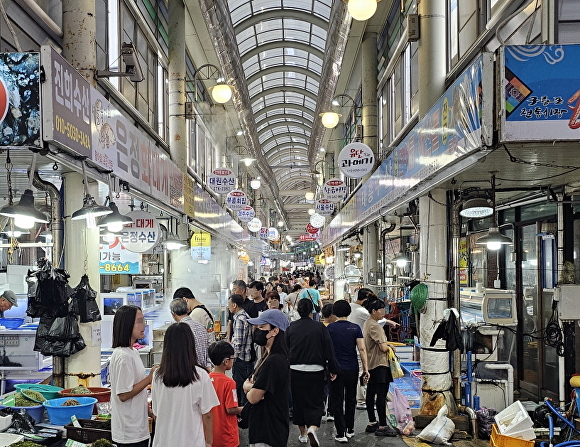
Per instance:
[[[153,447],[211,447],[219,400],[209,374],[197,363],[193,333],[186,323],[167,328],[161,364],[151,385],[155,421]]]

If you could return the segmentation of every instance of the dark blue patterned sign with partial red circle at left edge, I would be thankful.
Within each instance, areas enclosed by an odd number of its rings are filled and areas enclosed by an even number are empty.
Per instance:
[[[36,146],[40,141],[38,53],[0,53],[0,146]]]

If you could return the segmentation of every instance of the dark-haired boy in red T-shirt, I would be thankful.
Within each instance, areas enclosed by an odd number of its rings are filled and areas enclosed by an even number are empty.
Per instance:
[[[210,373],[215,392],[220,400],[217,407],[213,407],[213,444],[212,447],[238,447],[240,436],[238,433],[238,418],[243,407],[238,406],[236,382],[226,376],[226,371],[234,364],[234,348],[225,341],[212,343],[207,353],[215,365]]]

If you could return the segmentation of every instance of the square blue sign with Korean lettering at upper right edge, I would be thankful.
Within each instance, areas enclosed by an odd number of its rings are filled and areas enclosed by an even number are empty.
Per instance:
[[[513,45],[501,50],[501,140],[578,140],[580,45]]]

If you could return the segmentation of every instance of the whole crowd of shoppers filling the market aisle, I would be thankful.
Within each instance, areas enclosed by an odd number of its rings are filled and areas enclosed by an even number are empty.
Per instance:
[[[396,436],[386,405],[394,348],[382,326],[396,323],[384,319],[384,301],[363,288],[354,303],[324,303],[314,275],[270,279],[233,282],[226,339],[218,342],[213,315],[190,289],[177,289],[170,303],[176,323],[149,375],[133,348],[144,336],[143,313],[117,310],[110,371],[120,447],[149,445],[148,415],[156,422],[153,447],[237,447],[238,415],[248,421],[251,446],[286,446],[290,419],[300,443],[319,447],[323,420],[334,420],[335,441],[348,443],[357,407],[367,411],[365,432]]]

